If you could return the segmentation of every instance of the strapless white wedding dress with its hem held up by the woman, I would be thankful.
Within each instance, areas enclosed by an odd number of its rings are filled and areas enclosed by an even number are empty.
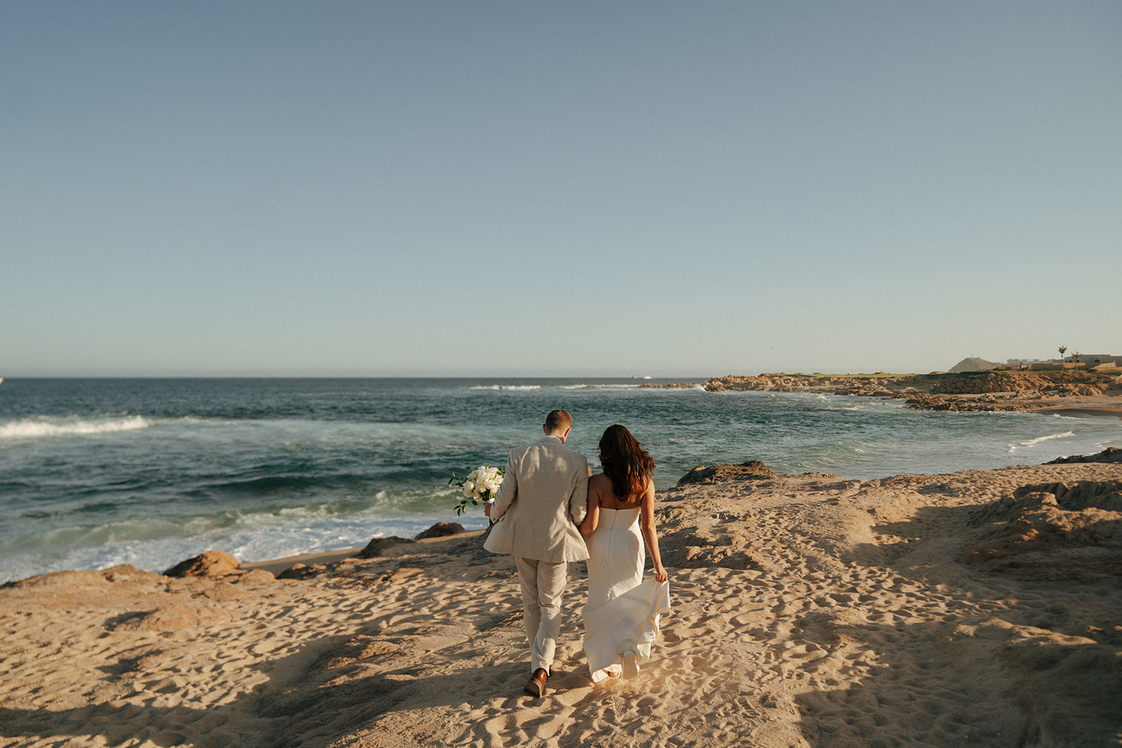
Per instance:
[[[638,507],[600,508],[588,544],[588,604],[585,606],[585,656],[592,681],[637,668],[651,658],[659,617],[670,612],[670,584],[643,582],[646,551],[638,528]],[[629,655],[627,653],[631,653]]]

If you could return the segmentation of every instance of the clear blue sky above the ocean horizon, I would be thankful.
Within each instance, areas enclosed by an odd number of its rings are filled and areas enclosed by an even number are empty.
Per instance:
[[[0,3],[0,376],[1122,353],[1122,2]]]

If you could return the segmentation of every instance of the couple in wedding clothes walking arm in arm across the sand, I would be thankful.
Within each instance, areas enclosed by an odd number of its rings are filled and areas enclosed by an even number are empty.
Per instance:
[[[530,640],[526,692],[545,694],[561,630],[569,562],[588,560],[585,656],[594,682],[633,676],[651,655],[659,616],[670,610],[666,570],[654,527],[654,460],[623,426],[600,438],[604,473],[564,445],[572,417],[552,410],[544,438],[511,450],[506,474],[485,512],[495,521],[484,544],[514,554]],[[654,580],[643,582],[643,541]]]

